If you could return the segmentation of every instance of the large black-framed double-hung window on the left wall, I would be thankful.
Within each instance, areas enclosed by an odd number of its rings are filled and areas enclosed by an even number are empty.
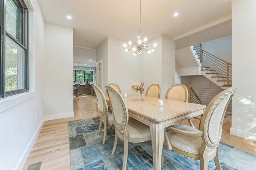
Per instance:
[[[0,98],[28,91],[28,10],[23,0],[0,0]]]

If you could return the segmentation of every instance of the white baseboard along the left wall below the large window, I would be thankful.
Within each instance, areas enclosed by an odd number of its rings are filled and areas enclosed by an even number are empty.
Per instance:
[[[22,168],[23,168],[24,164],[26,163],[26,160],[28,159],[28,156],[29,156],[29,154],[30,154],[30,152],[31,152],[31,150],[32,150],[32,148],[33,148],[35,142],[36,142],[36,139],[37,139],[37,137],[38,137],[38,135],[39,135],[39,133],[40,133],[40,131],[41,131],[43,125],[44,125],[44,119],[42,120],[40,126],[39,126],[38,129],[36,130],[36,133],[35,133],[34,136],[32,137],[32,139],[31,139],[31,141],[30,141],[28,147],[27,147],[26,150],[24,151],[23,156],[20,158],[20,161],[19,161],[19,163],[17,164],[17,166],[16,166],[16,168],[15,168],[16,170],[22,170]]]

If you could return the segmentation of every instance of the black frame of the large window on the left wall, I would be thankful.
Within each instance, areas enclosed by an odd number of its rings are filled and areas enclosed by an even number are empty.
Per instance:
[[[12,96],[15,94],[20,94],[24,92],[28,92],[29,84],[28,84],[28,8],[23,0],[12,0],[14,4],[20,8],[20,13],[18,14],[18,21],[17,21],[17,37],[13,37],[10,33],[6,31],[6,0],[0,0],[0,33],[1,33],[1,41],[0,41],[0,98],[4,98],[7,96]],[[5,54],[5,44],[6,44],[6,37],[8,37],[18,48],[24,50],[24,64],[22,64],[22,70],[24,70],[24,74],[22,75],[23,78],[23,88],[17,90],[10,90],[6,91],[6,54]],[[19,57],[20,55],[18,55]]]

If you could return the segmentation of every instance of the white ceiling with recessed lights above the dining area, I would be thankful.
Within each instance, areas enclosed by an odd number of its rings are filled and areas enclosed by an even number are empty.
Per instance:
[[[95,49],[108,36],[136,41],[139,34],[140,0],[38,2],[45,21],[74,28],[74,65],[95,66]],[[231,35],[231,0],[141,0],[141,37],[165,35],[177,49],[201,43],[199,34],[203,42]]]

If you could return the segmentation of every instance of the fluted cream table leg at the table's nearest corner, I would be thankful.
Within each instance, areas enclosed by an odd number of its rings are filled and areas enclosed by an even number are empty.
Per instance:
[[[153,151],[154,170],[161,169],[161,156],[164,145],[164,125],[162,123],[151,123],[151,141]]]

